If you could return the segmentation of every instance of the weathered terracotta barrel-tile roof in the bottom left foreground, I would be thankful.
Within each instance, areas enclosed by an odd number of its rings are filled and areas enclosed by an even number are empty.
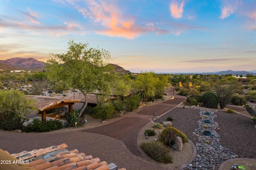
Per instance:
[[[0,153],[1,149],[0,149]],[[68,150],[68,146],[63,143],[58,146],[52,146],[45,149],[34,149],[32,151],[23,151],[16,154],[9,155],[8,151],[2,153],[12,156],[12,161],[18,161],[20,164],[12,164],[12,169],[36,169],[36,170],[126,170],[120,168],[116,164],[108,164],[101,161],[100,158],[93,158],[92,155],[85,155],[79,153],[77,149]],[[6,156],[5,156],[6,157]],[[1,158],[2,159],[2,158]],[[26,165],[27,164],[27,165]],[[24,167],[24,168],[22,168]],[[8,170],[1,167],[1,170]]]

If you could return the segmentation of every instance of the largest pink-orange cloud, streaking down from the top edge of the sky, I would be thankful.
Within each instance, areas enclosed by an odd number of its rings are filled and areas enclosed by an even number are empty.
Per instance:
[[[124,16],[118,6],[109,1],[86,0],[86,7],[75,4],[74,1],[68,2],[85,18],[102,26],[101,29],[96,30],[98,34],[133,39],[143,33],[154,31],[152,25],[136,25],[135,18]]]

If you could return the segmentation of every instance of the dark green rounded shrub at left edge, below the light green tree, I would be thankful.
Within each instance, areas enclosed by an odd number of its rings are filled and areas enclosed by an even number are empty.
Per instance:
[[[0,129],[12,131],[22,128],[22,121],[14,111],[6,111],[0,114]]]

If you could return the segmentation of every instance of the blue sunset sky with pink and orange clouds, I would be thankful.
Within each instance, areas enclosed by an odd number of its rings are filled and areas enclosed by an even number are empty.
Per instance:
[[[131,72],[256,69],[256,0],[0,0],[0,59],[110,52]]]

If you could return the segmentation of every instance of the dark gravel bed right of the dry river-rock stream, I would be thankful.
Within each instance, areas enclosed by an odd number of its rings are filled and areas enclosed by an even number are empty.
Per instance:
[[[240,158],[256,159],[255,122],[249,117],[238,113],[230,114],[226,111],[217,111],[214,119],[219,124],[222,146],[236,153]]]

